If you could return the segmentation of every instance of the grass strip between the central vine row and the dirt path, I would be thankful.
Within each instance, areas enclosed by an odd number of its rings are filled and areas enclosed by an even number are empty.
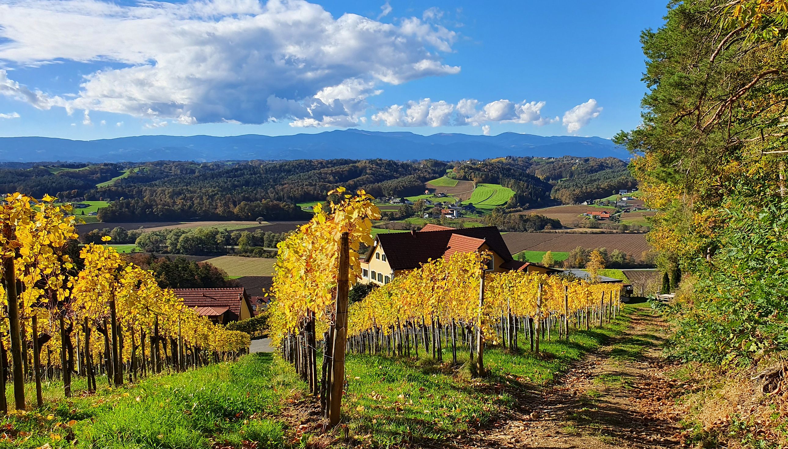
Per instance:
[[[470,378],[466,348],[458,348],[458,364],[452,366],[451,347],[444,347],[444,362],[427,356],[388,358],[348,354],[343,412],[355,443],[393,447],[403,443],[440,443],[459,434],[489,425],[515,404],[518,393],[532,393],[537,385],[549,384],[585,354],[619,336],[630,322],[628,314],[637,306],[626,306],[611,325],[589,331],[571,332],[570,338],[541,343],[541,356],[528,350],[519,335],[519,351],[500,346],[485,350],[489,376]],[[351,446],[353,444],[351,443]]]

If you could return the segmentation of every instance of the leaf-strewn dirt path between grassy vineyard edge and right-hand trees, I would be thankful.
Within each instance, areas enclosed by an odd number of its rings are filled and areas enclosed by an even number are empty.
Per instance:
[[[663,373],[659,344],[666,325],[636,310],[622,336],[589,354],[559,383],[522,398],[492,429],[456,447],[658,448],[678,447],[678,415]]]

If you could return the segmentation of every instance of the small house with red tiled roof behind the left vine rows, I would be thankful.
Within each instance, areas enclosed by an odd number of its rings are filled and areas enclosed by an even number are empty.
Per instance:
[[[210,321],[220,325],[254,316],[251,302],[243,287],[173,288],[173,292],[197,314],[209,317]]]

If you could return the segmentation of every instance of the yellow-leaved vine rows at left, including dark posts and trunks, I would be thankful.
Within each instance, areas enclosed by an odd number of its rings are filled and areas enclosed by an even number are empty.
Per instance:
[[[200,317],[113,247],[91,243],[73,260],[69,247],[77,236],[70,212],[50,195],[39,201],[19,193],[6,195],[0,209],[0,306],[6,311],[0,314],[0,362],[11,368],[17,410],[26,409],[28,380],[35,381],[40,407],[44,378],[63,380],[70,397],[73,375],[85,377],[87,391],[94,392],[97,375],[118,386],[248,351],[247,333]],[[0,372],[2,391],[7,374]],[[0,410],[8,411],[5,395]]]

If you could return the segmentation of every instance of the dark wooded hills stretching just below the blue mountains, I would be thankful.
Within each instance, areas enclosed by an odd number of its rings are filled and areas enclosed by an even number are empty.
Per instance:
[[[419,195],[454,168],[460,180],[502,184],[508,209],[579,202],[634,187],[616,158],[498,158],[446,163],[371,159],[298,161],[154,161],[142,164],[5,164],[4,191],[63,200],[105,200],[99,220],[303,220],[297,202],[322,201],[332,188],[363,188],[376,198]],[[110,181],[110,182],[107,182]],[[98,184],[98,185],[97,185]],[[515,225],[514,228],[522,227]]]

